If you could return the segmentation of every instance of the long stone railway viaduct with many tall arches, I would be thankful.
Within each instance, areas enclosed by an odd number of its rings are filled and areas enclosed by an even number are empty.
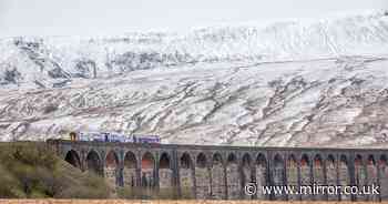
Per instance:
[[[175,198],[380,201],[388,200],[388,150],[243,147],[48,141],[82,171],[110,185],[175,192]],[[244,186],[257,185],[246,195]],[[379,185],[378,195],[265,195],[261,186]],[[171,197],[172,198],[172,197]]]

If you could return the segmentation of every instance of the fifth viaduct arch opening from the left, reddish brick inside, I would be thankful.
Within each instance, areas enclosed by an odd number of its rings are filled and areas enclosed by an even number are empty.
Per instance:
[[[141,181],[143,187],[154,187],[155,186],[155,159],[152,153],[146,152],[142,156],[142,170],[141,170]]]

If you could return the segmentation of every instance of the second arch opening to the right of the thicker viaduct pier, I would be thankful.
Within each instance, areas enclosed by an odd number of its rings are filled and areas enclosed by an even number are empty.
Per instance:
[[[196,156],[195,165],[196,198],[208,198],[211,195],[211,175],[204,153]]]

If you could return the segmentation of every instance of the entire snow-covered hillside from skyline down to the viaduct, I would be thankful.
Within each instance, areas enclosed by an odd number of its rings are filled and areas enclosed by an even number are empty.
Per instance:
[[[388,144],[388,16],[0,41],[1,140]]]

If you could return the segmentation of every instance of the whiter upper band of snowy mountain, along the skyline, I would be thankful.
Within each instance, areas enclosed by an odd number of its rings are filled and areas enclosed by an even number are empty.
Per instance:
[[[4,84],[52,88],[55,83],[62,85],[69,78],[106,78],[198,62],[385,54],[387,42],[388,16],[382,12],[257,27],[206,28],[187,33],[11,38],[0,40],[0,80]]]

